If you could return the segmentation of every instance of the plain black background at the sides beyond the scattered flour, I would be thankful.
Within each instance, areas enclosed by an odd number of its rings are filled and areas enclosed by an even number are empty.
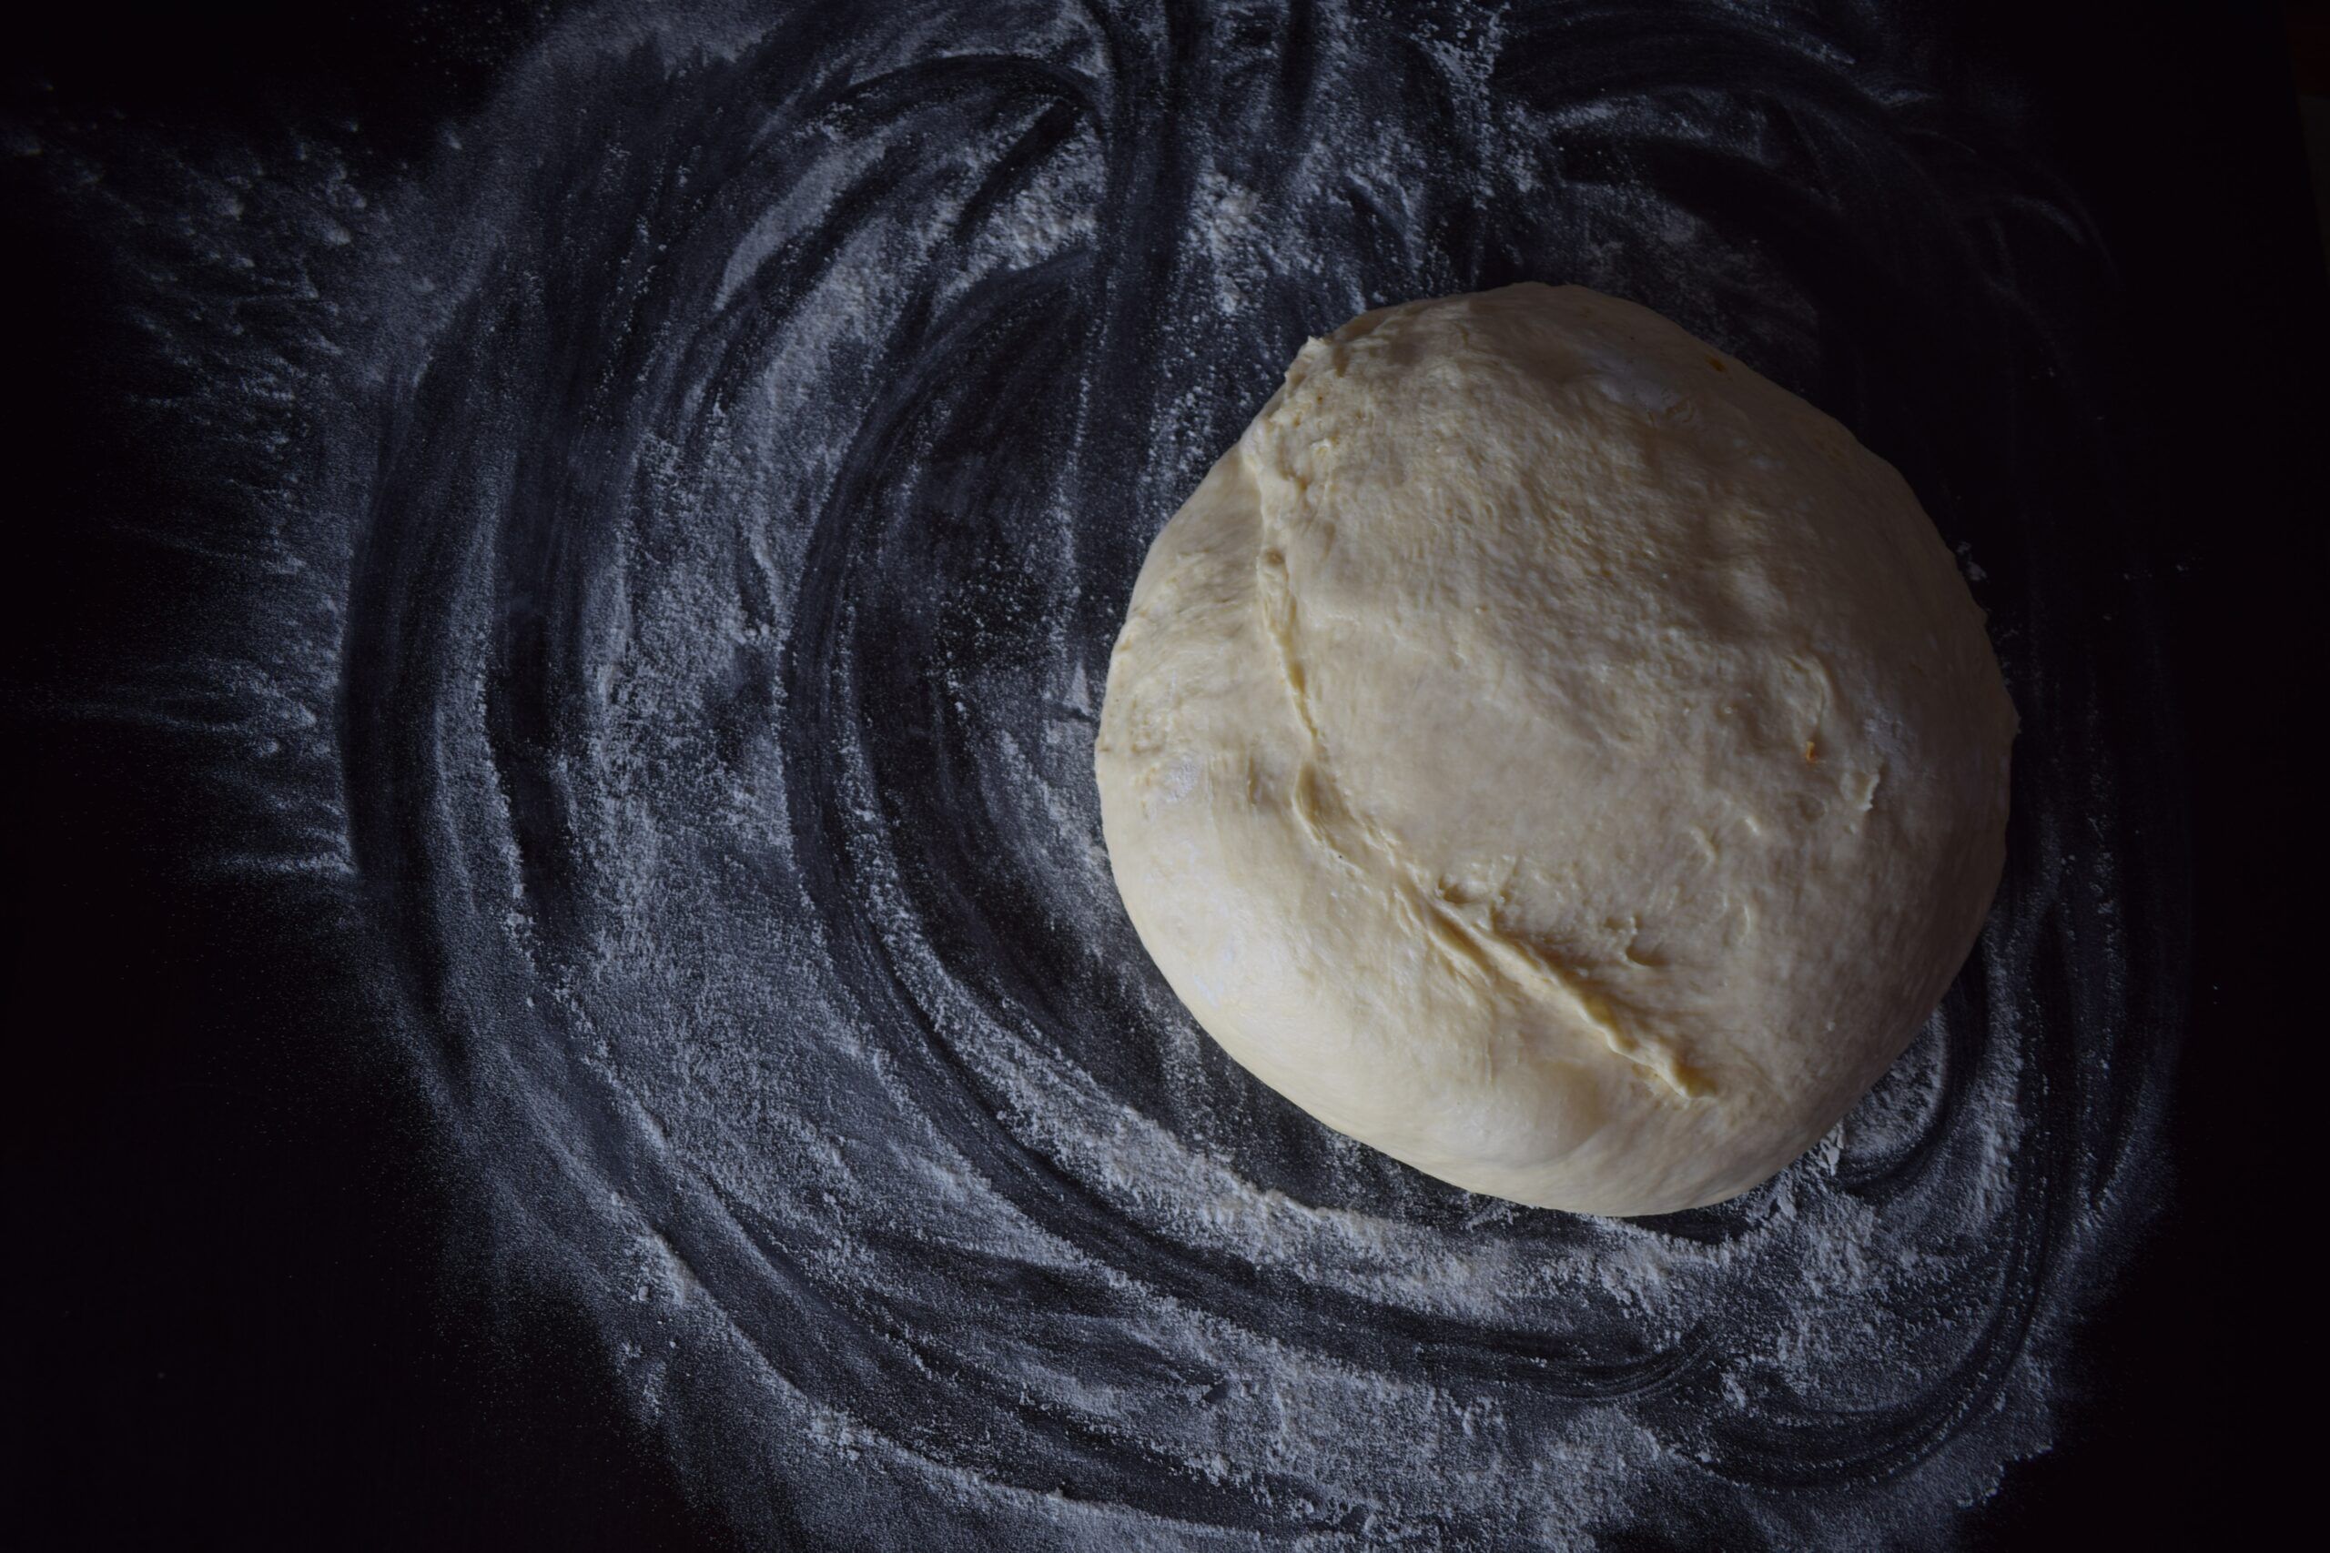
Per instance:
[[[394,177],[543,9],[49,12],[9,44],[7,114],[119,109],[163,144],[354,119],[377,158],[359,177]],[[2220,1539],[2293,1485],[2274,1446],[2311,1413],[2314,1236],[2276,1183],[2283,1139],[2311,1141],[2288,1108],[2321,1029],[2300,889],[2321,780],[2297,750],[2323,712],[2323,258],[2272,7],[1992,5],[1960,35],[2034,91],[2034,154],[2137,298],[2200,894],[2176,1199],[2102,1297],[2060,1446],[2011,1467],[1967,1537]],[[422,1118],[368,1066],[336,969],[263,929],[261,885],[186,866],[214,838],[149,733],[58,715],[107,643],[175,605],[103,522],[168,491],[168,456],[119,431],[123,321],[91,237],[30,158],[0,179],[23,391],[0,570],[9,1520],[37,1527],[23,1546],[692,1544],[657,1448],[562,1362],[580,1316],[513,1332],[461,1306]]]

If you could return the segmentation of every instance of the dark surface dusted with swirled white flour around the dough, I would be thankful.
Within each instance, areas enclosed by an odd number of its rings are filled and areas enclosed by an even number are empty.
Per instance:
[[[2011,112],[1852,7],[769,9],[576,14],[410,177],[30,147],[214,494],[128,522],[228,577],[75,710],[177,729],[217,866],[370,978],[466,1278],[580,1302],[755,1537],[1948,1541],[2158,1199],[2181,999],[2102,845],[2141,556],[2069,549],[2113,487],[2034,303],[2109,275]],[[1666,1220],[1312,1125],[1100,850],[1156,529],[1305,333],[1521,277],[1899,463],[2025,726],[1932,1027]]]

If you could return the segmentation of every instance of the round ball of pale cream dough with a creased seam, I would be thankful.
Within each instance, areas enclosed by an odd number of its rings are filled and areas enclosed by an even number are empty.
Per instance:
[[[1142,943],[1263,1083],[1475,1192],[1664,1213],[1908,1043],[2013,731],[1892,466],[1524,284],[1302,347],[1149,552],[1097,775]]]

